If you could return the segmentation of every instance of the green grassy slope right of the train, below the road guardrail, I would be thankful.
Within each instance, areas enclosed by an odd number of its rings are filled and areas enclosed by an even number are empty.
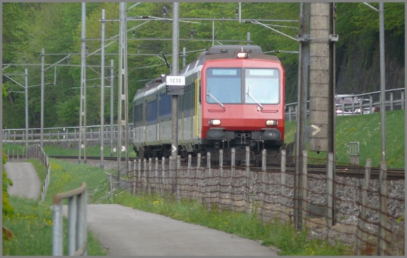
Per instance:
[[[386,112],[386,162],[389,168],[405,167],[405,117],[404,110]],[[308,121],[307,121],[308,124]],[[285,142],[293,142],[297,121],[285,122]],[[366,164],[366,159],[372,159],[372,166],[379,167],[382,157],[382,132],[380,113],[360,116],[336,117],[336,162],[347,165],[350,163],[349,142],[359,142],[360,165]],[[307,146],[308,150],[308,146]],[[326,163],[326,152],[309,152],[309,162],[318,160]]]

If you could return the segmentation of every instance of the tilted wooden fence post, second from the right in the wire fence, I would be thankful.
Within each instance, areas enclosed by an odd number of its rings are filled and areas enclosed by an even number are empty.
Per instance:
[[[357,255],[362,254],[362,245],[363,245],[363,236],[365,230],[365,219],[366,219],[366,206],[367,206],[367,190],[369,189],[369,180],[370,180],[370,168],[372,160],[366,160],[366,169],[365,169],[365,183],[362,187],[362,207],[360,212],[360,219],[358,223],[358,233],[357,233]]]

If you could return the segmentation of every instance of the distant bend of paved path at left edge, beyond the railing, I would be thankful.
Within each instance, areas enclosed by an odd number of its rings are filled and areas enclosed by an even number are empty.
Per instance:
[[[7,177],[13,181],[8,187],[10,195],[37,199],[40,196],[40,178],[30,162],[6,162]]]

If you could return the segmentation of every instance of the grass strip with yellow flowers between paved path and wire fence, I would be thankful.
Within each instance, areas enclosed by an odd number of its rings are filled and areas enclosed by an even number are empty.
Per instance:
[[[292,225],[264,224],[256,215],[231,211],[211,211],[196,201],[176,202],[159,196],[135,196],[124,191],[113,198],[115,203],[135,209],[166,215],[227,233],[237,234],[263,245],[276,247],[279,255],[350,255],[349,247],[327,241],[308,239],[307,232],[298,232]]]

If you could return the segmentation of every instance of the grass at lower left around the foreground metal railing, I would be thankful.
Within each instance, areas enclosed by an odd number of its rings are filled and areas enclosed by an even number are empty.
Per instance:
[[[78,188],[82,181],[93,190],[94,198],[107,201],[107,181],[104,171],[85,164],[50,159],[51,179],[44,203],[39,200],[11,196],[14,214],[3,215],[3,226],[14,234],[3,240],[3,255],[52,255],[52,199],[55,194]],[[42,183],[46,170],[33,160]],[[104,197],[106,196],[106,198]],[[64,253],[67,254],[67,221],[64,219]],[[88,255],[107,255],[105,248],[88,231]]]

